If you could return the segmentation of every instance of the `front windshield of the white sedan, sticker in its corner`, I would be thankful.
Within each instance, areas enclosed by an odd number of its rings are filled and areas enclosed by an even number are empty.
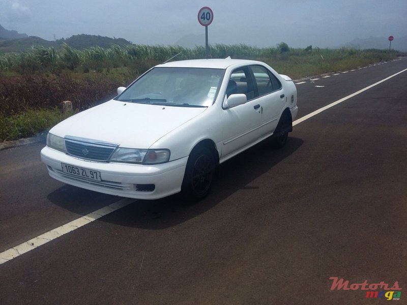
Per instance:
[[[144,74],[115,100],[178,107],[214,103],[223,69],[158,67]]]

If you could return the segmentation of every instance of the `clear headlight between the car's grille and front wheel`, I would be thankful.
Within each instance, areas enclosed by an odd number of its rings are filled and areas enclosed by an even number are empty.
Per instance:
[[[117,148],[110,158],[112,162],[160,164],[169,160],[168,149]]]

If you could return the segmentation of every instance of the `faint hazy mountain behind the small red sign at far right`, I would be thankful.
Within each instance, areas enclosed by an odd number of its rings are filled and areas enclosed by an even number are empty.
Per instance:
[[[356,49],[389,49],[390,41],[387,37],[369,37],[366,39],[354,39],[345,44],[345,46],[353,47]],[[407,36],[394,37],[391,42],[391,48],[398,51],[407,51]]]

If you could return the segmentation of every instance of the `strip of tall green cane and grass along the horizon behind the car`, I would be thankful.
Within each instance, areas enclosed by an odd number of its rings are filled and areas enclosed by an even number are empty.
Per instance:
[[[350,69],[373,62],[396,57],[396,52],[386,50],[319,49],[308,46],[305,49],[292,49],[284,42],[276,48],[257,48],[240,45],[210,46],[211,58],[260,59],[270,64],[279,73],[292,78],[300,78]],[[110,48],[94,46],[78,50],[64,43],[57,50],[52,46],[35,46],[28,51],[0,54],[0,71],[16,74],[41,74],[62,72],[88,73],[110,72],[109,69],[126,68],[142,73],[150,65],[162,63],[180,53],[176,60],[205,58],[205,48],[194,49],[180,46],[113,45]],[[311,70],[310,70],[311,68]]]

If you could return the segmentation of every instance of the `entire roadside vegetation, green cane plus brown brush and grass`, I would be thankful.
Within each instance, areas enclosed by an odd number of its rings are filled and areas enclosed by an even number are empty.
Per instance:
[[[81,41],[84,37],[78,35]],[[64,41],[60,48],[34,46],[17,53],[0,53],[0,141],[36,134],[66,117],[62,101],[80,111],[115,96],[149,68],[172,56],[175,60],[205,58],[205,47],[131,45],[77,49]],[[72,41],[71,41],[72,43]],[[96,43],[90,42],[91,44]],[[111,41],[106,41],[107,44]],[[257,59],[293,79],[343,71],[390,60],[397,52],[349,48],[257,48],[244,44],[210,46],[211,58]]]

